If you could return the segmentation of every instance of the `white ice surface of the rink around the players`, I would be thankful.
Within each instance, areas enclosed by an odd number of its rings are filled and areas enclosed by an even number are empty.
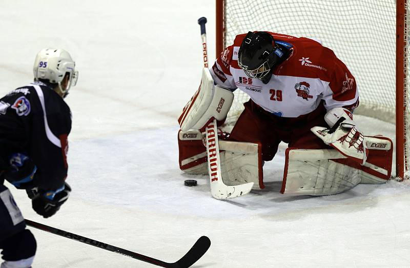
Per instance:
[[[66,99],[72,194],[43,219],[8,184],[23,215],[167,262],[207,235],[211,248],[197,268],[410,266],[408,181],[284,196],[284,147],[265,163],[265,190],[229,201],[211,197],[207,176],[182,174],[177,117],[200,81],[201,16],[214,59],[214,1],[0,1],[1,96],[32,81],[44,47],[68,50],[79,70]],[[366,135],[393,137],[393,125],[358,121]],[[187,178],[198,186],[185,187]],[[30,230],[38,243],[34,268],[154,267]]]

